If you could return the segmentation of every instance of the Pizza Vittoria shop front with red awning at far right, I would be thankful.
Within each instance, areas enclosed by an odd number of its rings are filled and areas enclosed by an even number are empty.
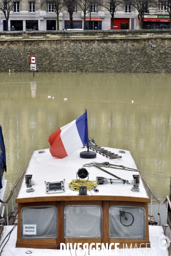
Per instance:
[[[141,19],[139,18],[139,25]],[[169,15],[144,15],[144,29],[170,29]]]

